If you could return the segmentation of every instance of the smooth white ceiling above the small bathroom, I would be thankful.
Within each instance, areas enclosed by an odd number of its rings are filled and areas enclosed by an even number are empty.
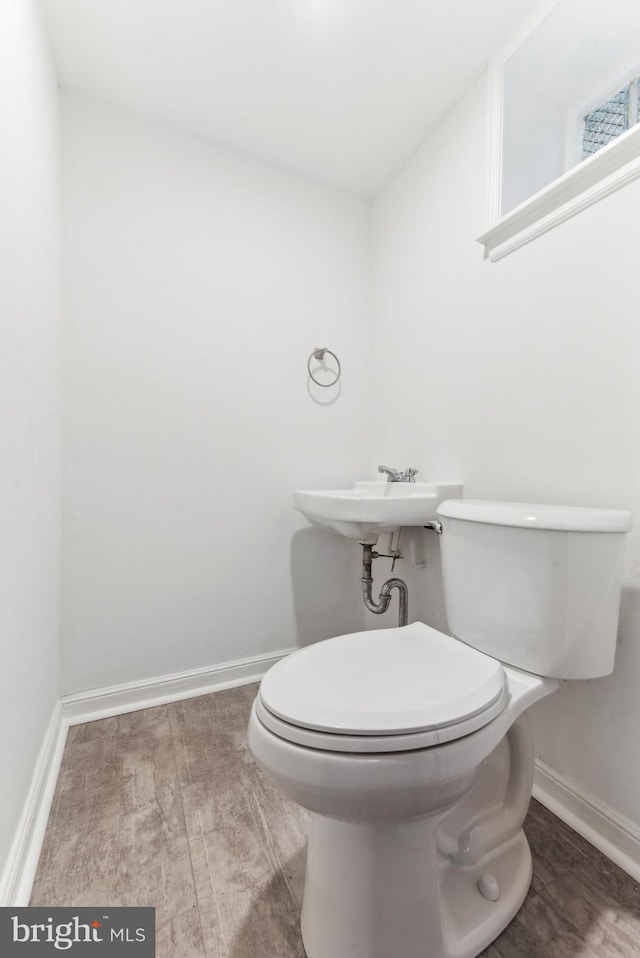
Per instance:
[[[62,87],[371,195],[535,0],[42,0]]]

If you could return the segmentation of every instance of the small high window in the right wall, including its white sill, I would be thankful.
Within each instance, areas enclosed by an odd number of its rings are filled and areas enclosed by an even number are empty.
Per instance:
[[[546,0],[489,72],[485,256],[640,180],[640,0]]]

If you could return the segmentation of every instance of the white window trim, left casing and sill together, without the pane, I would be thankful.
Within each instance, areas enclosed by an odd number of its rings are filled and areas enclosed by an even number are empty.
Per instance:
[[[546,0],[512,38],[487,70],[487,228],[477,237],[485,259],[497,262],[526,246],[594,203],[640,177],[640,122],[534,193],[504,216],[502,198],[502,141],[504,80],[507,61],[561,0]],[[587,99],[587,98],[585,98]],[[566,149],[566,145],[565,145]]]

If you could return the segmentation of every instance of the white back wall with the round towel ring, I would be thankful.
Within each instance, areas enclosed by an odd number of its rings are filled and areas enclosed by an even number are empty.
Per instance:
[[[362,472],[366,204],[63,104],[63,690],[361,628],[358,549],[292,490]],[[339,394],[307,389],[316,346]]]

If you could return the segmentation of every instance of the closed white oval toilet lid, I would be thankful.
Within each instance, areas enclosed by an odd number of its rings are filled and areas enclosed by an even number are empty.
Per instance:
[[[414,622],[294,652],[267,672],[260,701],[302,729],[397,736],[464,723],[495,705],[504,686],[496,659]]]

